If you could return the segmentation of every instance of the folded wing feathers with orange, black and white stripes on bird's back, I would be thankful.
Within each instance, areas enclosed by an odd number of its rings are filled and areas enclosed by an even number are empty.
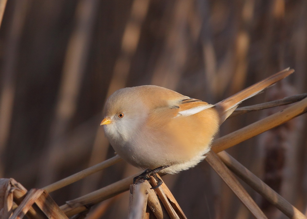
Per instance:
[[[193,114],[196,114],[198,112],[201,112],[205,109],[208,109],[214,106],[215,105],[208,104],[204,101],[193,99],[193,98],[184,99],[184,100],[181,100],[177,105],[177,107],[179,107],[177,116],[193,115]]]

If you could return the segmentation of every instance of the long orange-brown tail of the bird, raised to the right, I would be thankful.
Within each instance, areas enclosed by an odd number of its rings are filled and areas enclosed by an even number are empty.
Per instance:
[[[225,119],[227,119],[227,117],[231,115],[231,113],[237,108],[237,106],[242,101],[257,95],[267,87],[275,84],[279,80],[284,79],[293,72],[294,72],[293,69],[286,68],[285,70],[278,72],[262,81],[259,81],[258,83],[253,84],[250,87],[245,88],[244,90],[215,104],[216,109],[219,111],[221,117],[220,124],[223,123]]]

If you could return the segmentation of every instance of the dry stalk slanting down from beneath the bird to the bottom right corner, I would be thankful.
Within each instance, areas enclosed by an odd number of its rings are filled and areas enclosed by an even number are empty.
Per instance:
[[[267,186],[261,179],[240,164],[235,158],[231,157],[226,151],[217,154],[220,159],[233,171],[239,178],[251,186],[256,192],[262,195],[271,204],[276,206],[282,213],[292,219],[306,219],[299,210],[281,197],[278,193]]]

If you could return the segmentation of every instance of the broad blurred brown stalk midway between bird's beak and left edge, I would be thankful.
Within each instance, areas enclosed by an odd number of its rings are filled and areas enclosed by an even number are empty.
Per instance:
[[[48,185],[54,181],[55,174],[58,172],[54,165],[60,147],[57,139],[67,131],[68,124],[76,111],[98,3],[98,0],[78,2],[75,14],[76,26],[68,43],[49,142],[41,161],[39,186]]]

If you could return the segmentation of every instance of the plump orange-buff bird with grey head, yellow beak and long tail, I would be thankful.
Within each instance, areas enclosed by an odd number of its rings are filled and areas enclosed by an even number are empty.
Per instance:
[[[157,180],[156,173],[176,174],[196,166],[210,151],[220,125],[244,100],[294,72],[287,68],[216,104],[173,90],[142,85],[115,91],[104,106],[104,134],[115,152]]]

